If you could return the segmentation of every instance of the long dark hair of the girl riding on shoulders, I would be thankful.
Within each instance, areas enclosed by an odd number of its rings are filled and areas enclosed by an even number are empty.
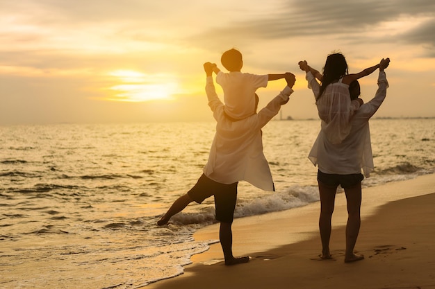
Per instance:
[[[319,100],[325,89],[332,82],[338,81],[340,78],[349,74],[345,56],[341,53],[333,53],[328,55],[325,67],[323,67],[323,79],[320,86],[320,92],[315,100]]]

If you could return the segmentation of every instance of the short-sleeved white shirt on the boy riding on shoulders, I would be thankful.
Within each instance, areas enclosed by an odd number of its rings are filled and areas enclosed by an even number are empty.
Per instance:
[[[224,91],[225,113],[233,119],[245,119],[255,113],[255,91],[267,87],[269,76],[233,71],[217,73],[216,82]]]

